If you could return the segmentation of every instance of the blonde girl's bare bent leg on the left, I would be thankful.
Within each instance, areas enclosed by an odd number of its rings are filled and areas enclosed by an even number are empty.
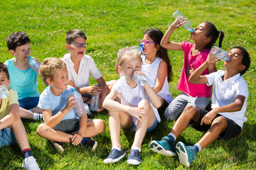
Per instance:
[[[121,148],[120,126],[130,128],[133,125],[132,116],[129,113],[109,112],[109,124],[112,147]]]

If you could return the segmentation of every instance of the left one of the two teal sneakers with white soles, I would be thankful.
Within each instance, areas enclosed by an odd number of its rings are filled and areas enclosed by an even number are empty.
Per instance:
[[[158,154],[164,154],[165,156],[171,157],[176,155],[174,143],[170,141],[168,136],[163,137],[160,141],[153,140],[149,147],[152,151]]]

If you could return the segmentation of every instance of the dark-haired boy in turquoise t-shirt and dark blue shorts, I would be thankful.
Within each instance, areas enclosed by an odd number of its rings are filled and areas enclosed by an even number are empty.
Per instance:
[[[12,33],[6,39],[11,60],[4,64],[8,68],[11,77],[11,89],[18,93],[18,103],[21,108],[21,118],[43,119],[41,108],[38,108],[39,92],[37,73],[28,64],[28,56],[31,55],[31,41],[23,32]]]

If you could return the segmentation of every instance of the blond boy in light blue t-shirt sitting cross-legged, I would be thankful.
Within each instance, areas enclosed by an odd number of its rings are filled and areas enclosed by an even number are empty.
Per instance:
[[[78,118],[75,111],[77,102],[72,94],[72,86],[68,85],[68,70],[63,60],[46,58],[40,67],[40,74],[49,84],[40,96],[39,104],[43,109],[46,123],[38,126],[41,137],[50,140],[55,149],[64,152],[63,142],[73,145],[85,145],[95,150],[97,142],[91,137],[105,130],[103,120],[87,119],[87,114]]]

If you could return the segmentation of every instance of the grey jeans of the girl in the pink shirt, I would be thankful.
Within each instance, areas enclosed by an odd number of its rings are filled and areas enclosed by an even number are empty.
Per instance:
[[[169,106],[164,111],[164,118],[169,120],[176,120],[179,117],[179,115],[181,115],[186,106],[189,105],[205,109],[209,102],[210,97],[206,98],[201,96],[201,98],[195,98],[188,96],[183,92],[182,94],[174,98],[174,101],[171,101]]]

